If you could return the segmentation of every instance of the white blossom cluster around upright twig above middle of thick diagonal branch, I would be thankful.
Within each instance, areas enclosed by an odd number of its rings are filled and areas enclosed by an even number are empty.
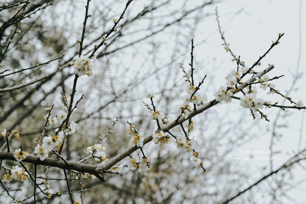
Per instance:
[[[181,96],[182,105],[180,106],[180,117],[188,118],[189,112],[192,112],[191,104],[200,106],[201,104],[207,103],[207,95],[202,94],[199,90],[196,90],[196,87],[192,85],[186,85],[186,93]]]

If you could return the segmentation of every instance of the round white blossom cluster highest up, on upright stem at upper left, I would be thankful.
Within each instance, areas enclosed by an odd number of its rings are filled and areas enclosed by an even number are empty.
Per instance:
[[[70,62],[70,65],[73,65],[74,73],[78,76],[87,75],[88,77],[92,76],[93,70],[95,69],[94,61],[96,55],[91,58],[88,58],[87,55],[81,55],[77,57],[74,62]]]

